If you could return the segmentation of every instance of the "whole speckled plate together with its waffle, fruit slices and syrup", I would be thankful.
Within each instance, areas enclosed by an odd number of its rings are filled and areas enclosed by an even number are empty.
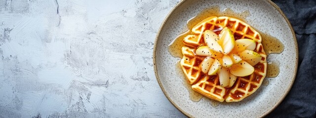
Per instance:
[[[270,0],[183,0],[162,23],[153,58],[160,88],[184,115],[263,117],[291,89],[297,49]]]

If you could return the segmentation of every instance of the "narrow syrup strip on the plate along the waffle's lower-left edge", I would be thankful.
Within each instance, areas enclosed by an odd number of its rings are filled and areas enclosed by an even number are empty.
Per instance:
[[[183,86],[189,91],[190,100],[192,100],[194,102],[200,101],[204,95],[198,93],[197,91],[195,91],[191,88],[191,85],[187,82],[186,77],[184,76],[184,73],[182,71],[182,68],[180,65],[180,60],[176,63],[176,71],[178,73],[178,76],[183,79],[183,81],[182,81]]]

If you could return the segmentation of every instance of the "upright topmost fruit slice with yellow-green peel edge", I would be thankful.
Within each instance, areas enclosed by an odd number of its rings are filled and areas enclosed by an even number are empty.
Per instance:
[[[229,54],[235,46],[235,38],[231,29],[225,27],[220,33],[219,44],[223,47],[223,54]]]

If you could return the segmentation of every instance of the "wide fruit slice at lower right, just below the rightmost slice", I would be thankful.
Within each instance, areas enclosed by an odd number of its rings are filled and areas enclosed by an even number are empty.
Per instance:
[[[254,68],[246,61],[241,60],[239,63],[234,64],[230,71],[233,75],[238,77],[244,77],[252,74],[254,72]]]

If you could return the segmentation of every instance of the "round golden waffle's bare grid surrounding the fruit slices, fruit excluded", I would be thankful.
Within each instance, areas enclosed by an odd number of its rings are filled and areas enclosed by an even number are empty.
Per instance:
[[[200,70],[200,62],[204,57],[197,56],[195,50],[204,45],[203,32],[207,29],[229,28],[232,30],[235,40],[248,38],[256,41],[256,53],[262,59],[254,65],[254,72],[245,77],[237,77],[231,88],[220,86],[218,75],[209,76]],[[192,89],[220,102],[237,102],[255,92],[260,86],[267,73],[267,55],[261,44],[260,34],[243,21],[232,17],[209,17],[198,23],[191,30],[191,34],[183,39],[186,45],[182,47],[183,58],[181,59],[182,70]]]

